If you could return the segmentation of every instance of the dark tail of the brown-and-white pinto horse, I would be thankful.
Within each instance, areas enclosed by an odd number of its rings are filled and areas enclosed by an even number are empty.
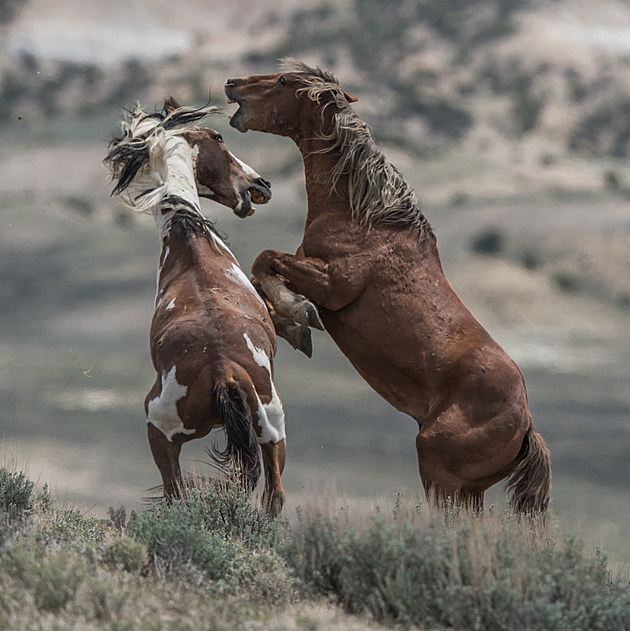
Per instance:
[[[223,467],[239,466],[243,486],[252,491],[258,483],[261,467],[258,440],[247,399],[235,381],[217,382],[213,397],[227,440],[225,449],[215,448],[211,456]]]

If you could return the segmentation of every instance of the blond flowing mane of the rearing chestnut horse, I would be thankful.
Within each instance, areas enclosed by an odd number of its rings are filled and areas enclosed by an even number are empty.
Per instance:
[[[292,58],[284,59],[283,67],[300,75],[304,87],[298,93],[322,104],[322,118],[328,107],[335,108],[331,132],[319,138],[331,143],[323,152],[340,153],[331,179],[334,187],[342,175],[348,177],[353,219],[367,226],[382,223],[414,228],[422,236],[433,234],[413,189],[376,145],[369,126],[356,115],[336,77]]]

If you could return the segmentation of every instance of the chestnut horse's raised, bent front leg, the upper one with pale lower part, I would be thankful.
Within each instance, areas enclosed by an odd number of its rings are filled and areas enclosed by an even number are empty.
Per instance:
[[[261,252],[252,273],[279,315],[322,330],[315,305],[329,311],[342,309],[361,294],[365,284],[365,275],[351,269],[347,259],[331,264],[276,250]],[[299,293],[291,291],[287,283]]]

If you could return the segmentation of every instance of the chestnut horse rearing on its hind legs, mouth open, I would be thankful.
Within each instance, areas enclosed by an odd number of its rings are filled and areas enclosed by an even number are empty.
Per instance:
[[[252,273],[275,311],[321,322],[370,386],[418,425],[429,497],[473,509],[507,478],[515,511],[546,514],[549,452],[523,376],[448,283],[436,238],[354,99],[319,68],[228,79],[231,125],[288,136],[304,159],[308,214],[295,255],[266,250]]]

